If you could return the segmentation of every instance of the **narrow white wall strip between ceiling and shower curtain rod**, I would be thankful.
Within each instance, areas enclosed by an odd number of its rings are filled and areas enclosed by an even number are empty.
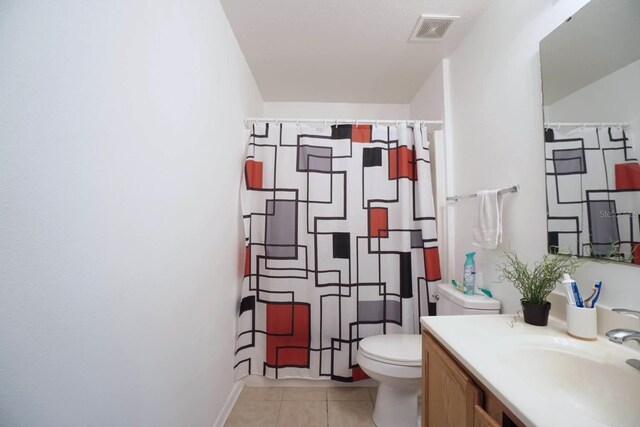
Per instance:
[[[265,102],[264,117],[287,119],[410,118],[409,104],[349,104],[341,102]]]

